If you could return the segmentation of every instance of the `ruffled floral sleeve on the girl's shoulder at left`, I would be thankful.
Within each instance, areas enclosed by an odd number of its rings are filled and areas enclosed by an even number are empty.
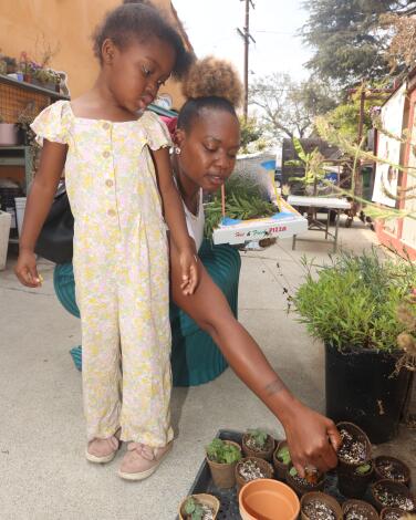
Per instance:
[[[37,134],[37,143],[43,146],[43,139],[67,144],[69,111],[67,101],[58,101],[46,106],[30,125]]]

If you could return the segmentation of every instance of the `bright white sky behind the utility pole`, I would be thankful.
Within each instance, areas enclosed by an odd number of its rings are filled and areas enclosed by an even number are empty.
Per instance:
[[[243,40],[237,28],[245,25],[245,1],[173,0],[198,58],[215,54],[243,71]],[[304,80],[303,64],[311,55],[295,35],[306,20],[302,0],[253,0],[250,9],[249,81],[273,72],[287,72]]]

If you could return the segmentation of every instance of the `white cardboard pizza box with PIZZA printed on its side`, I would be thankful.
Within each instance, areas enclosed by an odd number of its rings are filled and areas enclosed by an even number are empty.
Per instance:
[[[281,212],[267,218],[233,220],[225,218],[214,230],[212,240],[219,243],[245,243],[264,238],[289,238],[308,231],[308,220],[288,202],[281,200]]]

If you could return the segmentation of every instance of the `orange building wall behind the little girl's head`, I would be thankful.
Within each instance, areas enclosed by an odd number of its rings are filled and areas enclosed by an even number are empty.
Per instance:
[[[50,66],[67,73],[71,96],[76,97],[93,84],[98,64],[92,52],[91,34],[104,14],[118,0],[0,0],[0,49],[19,59],[21,51],[41,61],[48,49],[56,51]],[[170,0],[154,0],[174,21]],[[180,87],[169,81],[160,94],[183,103]]]

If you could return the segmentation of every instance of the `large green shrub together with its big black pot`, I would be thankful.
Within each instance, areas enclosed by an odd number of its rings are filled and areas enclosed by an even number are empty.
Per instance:
[[[309,266],[293,298],[300,321],[325,346],[326,415],[357,424],[375,444],[397,434],[409,392],[416,342],[406,351],[397,310],[415,287],[415,269],[383,261],[374,248],[342,252],[316,274]]]

